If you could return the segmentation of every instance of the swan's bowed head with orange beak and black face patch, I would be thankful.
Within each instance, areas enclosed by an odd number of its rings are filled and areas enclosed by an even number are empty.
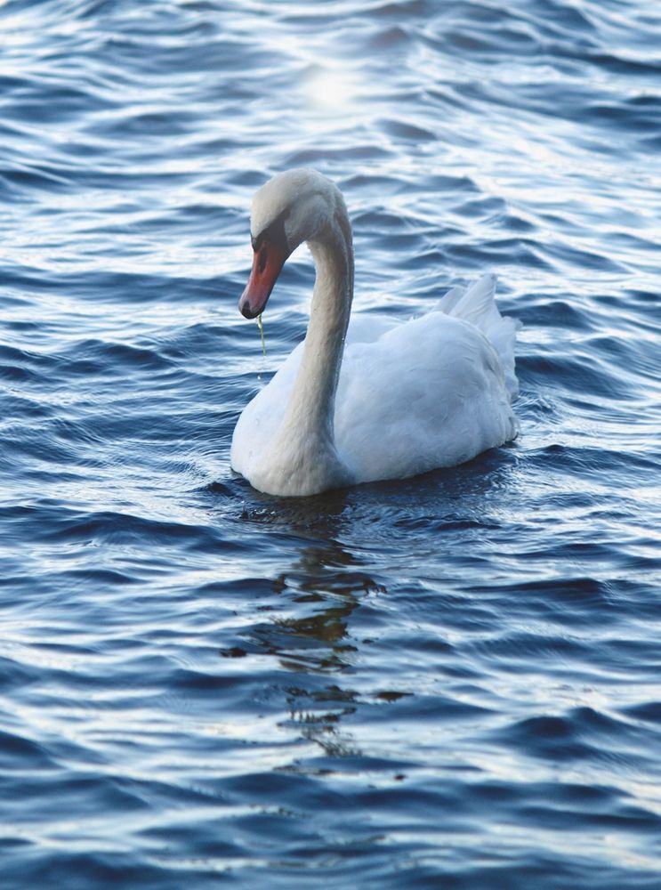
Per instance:
[[[262,185],[253,198],[250,234],[253,269],[238,308],[246,319],[261,315],[289,255],[318,238],[343,201],[335,185],[316,170],[287,170]]]

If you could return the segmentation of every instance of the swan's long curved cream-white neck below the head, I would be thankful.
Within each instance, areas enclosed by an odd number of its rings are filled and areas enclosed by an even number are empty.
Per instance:
[[[278,449],[288,451],[289,461],[303,472],[315,460],[339,465],[333,428],[335,391],[353,298],[351,225],[343,207],[309,246],[317,273],[310,324],[278,435]]]

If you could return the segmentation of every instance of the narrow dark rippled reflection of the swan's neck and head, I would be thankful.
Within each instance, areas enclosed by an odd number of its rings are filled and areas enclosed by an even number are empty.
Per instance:
[[[338,540],[347,494],[291,501],[257,497],[251,510],[248,521],[268,521],[300,544],[294,562],[273,578],[278,617],[255,624],[246,635],[251,652],[278,659],[278,691],[287,711],[280,725],[316,743],[322,756],[359,756],[341,725],[359,707],[350,677],[363,641],[351,635],[351,615],[385,588]]]

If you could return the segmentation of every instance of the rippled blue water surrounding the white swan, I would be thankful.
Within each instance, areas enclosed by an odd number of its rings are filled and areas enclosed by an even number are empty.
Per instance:
[[[0,885],[661,887],[661,6],[0,7]],[[499,277],[520,438],[280,500],[254,190],[357,312]]]

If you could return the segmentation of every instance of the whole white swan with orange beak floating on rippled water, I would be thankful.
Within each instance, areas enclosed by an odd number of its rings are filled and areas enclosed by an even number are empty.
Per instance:
[[[255,489],[312,495],[403,479],[514,438],[517,322],[496,309],[493,276],[454,287],[421,318],[350,325],[351,224],[332,182],[314,170],[278,174],[254,196],[251,232],[253,269],[238,304],[247,319],[261,314],[302,241],[317,271],[305,340],[234,430],[232,468]]]

